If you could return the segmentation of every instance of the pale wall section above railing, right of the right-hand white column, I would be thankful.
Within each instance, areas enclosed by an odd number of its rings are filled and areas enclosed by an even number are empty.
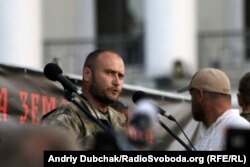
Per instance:
[[[243,0],[198,0],[199,32],[241,30]]]

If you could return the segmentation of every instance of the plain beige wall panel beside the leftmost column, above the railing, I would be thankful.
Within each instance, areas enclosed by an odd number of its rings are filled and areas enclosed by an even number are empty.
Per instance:
[[[44,38],[77,37],[76,2],[68,0],[43,0]]]

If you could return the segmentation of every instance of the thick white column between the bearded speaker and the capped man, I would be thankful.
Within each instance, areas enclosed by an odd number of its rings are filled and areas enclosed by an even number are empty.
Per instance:
[[[197,70],[196,0],[145,1],[145,67],[148,77],[170,77],[181,61]]]

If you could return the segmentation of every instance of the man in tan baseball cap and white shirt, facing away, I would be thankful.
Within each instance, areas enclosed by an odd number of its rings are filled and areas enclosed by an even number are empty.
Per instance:
[[[190,84],[179,92],[189,91],[192,115],[202,122],[197,150],[225,150],[225,131],[229,127],[250,128],[249,122],[231,108],[231,84],[228,76],[215,68],[196,72]]]

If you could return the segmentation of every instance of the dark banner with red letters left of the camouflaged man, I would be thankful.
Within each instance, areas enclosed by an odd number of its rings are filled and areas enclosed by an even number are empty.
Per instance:
[[[64,103],[63,87],[42,72],[0,64],[0,121],[40,124],[40,118]]]

